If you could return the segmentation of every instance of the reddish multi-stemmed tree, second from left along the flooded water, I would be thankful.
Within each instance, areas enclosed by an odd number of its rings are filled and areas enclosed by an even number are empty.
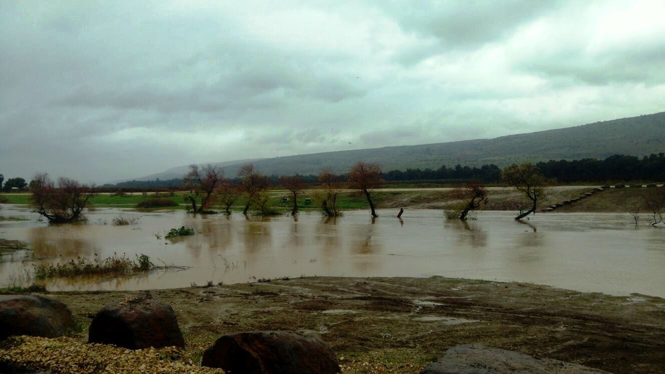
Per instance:
[[[185,200],[192,204],[192,212],[204,212],[210,207],[213,193],[223,177],[223,170],[211,164],[202,168],[190,165],[190,172],[185,176],[185,186],[190,192],[185,196]],[[199,196],[201,196],[201,206],[197,207]]]

